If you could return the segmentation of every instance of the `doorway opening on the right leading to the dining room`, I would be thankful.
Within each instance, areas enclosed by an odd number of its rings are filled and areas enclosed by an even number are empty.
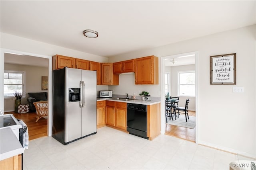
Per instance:
[[[162,57],[162,129],[163,134],[171,135],[197,143],[197,52],[183,53]],[[177,97],[176,103],[170,104],[173,97]],[[167,100],[166,100],[167,98]],[[188,103],[188,116],[174,111],[174,107],[185,107]],[[169,103],[166,101],[169,101]],[[170,108],[170,111],[166,107]],[[167,116],[166,116],[167,115]],[[171,115],[171,116],[170,116]],[[173,119],[173,120],[172,120]],[[167,121],[167,122],[166,122]]]

